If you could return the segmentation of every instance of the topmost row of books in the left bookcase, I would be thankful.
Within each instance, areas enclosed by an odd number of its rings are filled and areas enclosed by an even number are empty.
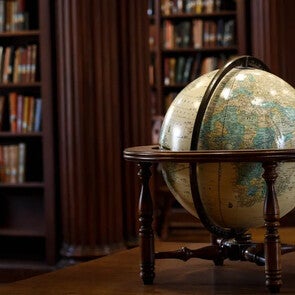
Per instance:
[[[29,29],[25,0],[0,0],[0,32]]]

